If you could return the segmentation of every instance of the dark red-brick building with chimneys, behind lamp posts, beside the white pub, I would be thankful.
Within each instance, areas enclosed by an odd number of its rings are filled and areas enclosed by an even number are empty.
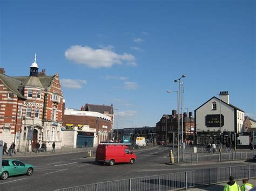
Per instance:
[[[183,141],[194,140],[194,118],[192,117],[192,112],[190,116],[187,117],[187,113],[184,112],[183,116],[179,115],[180,122],[180,140],[181,140],[181,124],[183,117]],[[164,114],[160,121],[157,123],[157,140],[164,141],[167,143],[177,142],[178,133],[178,114],[176,110],[172,110],[172,115]]]

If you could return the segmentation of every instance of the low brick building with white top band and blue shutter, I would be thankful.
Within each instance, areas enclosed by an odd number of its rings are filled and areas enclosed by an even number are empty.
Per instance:
[[[65,107],[65,106],[63,106]],[[65,109],[63,144],[72,147],[97,146],[109,139],[111,117],[93,111]]]

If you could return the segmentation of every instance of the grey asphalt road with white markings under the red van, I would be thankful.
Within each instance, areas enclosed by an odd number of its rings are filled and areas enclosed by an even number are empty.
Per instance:
[[[86,158],[86,152],[44,155],[38,157],[17,158],[35,166],[32,176],[15,176],[0,180],[0,190],[55,190],[89,183],[136,178],[183,172],[199,168],[217,168],[223,166],[244,165],[245,162],[230,162],[204,165],[176,166],[169,162],[168,146],[158,146],[136,152],[137,160],[133,165],[98,165],[95,158]]]

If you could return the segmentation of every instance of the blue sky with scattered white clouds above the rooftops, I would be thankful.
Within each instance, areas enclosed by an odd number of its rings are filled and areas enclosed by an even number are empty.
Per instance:
[[[256,118],[255,1],[1,1],[0,66],[60,75],[66,107],[113,103],[119,128],[155,126],[219,91]],[[186,109],[185,109],[186,111]]]

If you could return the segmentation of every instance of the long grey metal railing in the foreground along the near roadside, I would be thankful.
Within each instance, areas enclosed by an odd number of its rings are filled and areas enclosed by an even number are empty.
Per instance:
[[[230,175],[236,179],[256,177],[256,165],[198,169],[194,171],[99,182],[90,185],[58,189],[58,191],[177,190],[225,182],[228,181]]]

